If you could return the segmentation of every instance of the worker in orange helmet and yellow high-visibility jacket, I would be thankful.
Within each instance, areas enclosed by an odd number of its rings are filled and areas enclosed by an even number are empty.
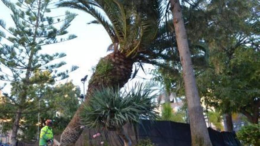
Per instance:
[[[53,145],[52,120],[46,120],[40,132],[39,146]]]

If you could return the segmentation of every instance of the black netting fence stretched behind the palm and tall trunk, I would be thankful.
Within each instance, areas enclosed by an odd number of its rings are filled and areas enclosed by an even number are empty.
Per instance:
[[[131,138],[133,144],[140,139],[150,139],[157,146],[191,146],[190,125],[170,121],[142,120],[142,124],[134,130],[134,127],[127,124],[124,126],[126,133]],[[218,132],[208,128],[209,137],[213,146],[240,146],[235,132]],[[96,139],[92,137],[97,131],[86,129],[75,145],[83,146],[86,142],[93,145]],[[116,132],[99,131],[103,139],[112,146],[123,146],[124,142]],[[84,136],[83,136],[84,135]]]

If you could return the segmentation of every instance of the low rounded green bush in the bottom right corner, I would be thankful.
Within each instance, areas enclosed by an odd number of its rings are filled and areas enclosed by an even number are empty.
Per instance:
[[[241,130],[237,132],[237,137],[246,146],[260,145],[260,125],[259,124],[249,124],[243,126]]]

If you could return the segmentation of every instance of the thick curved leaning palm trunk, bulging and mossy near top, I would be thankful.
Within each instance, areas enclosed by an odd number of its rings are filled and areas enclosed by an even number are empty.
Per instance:
[[[113,52],[104,58],[101,58],[96,66],[95,73],[93,73],[89,84],[85,103],[88,102],[90,94],[102,87],[112,86],[120,88],[129,80],[132,73],[133,60],[126,58],[126,56],[120,52]],[[82,104],[83,105],[83,104]],[[61,135],[61,146],[75,143],[80,134],[82,133],[84,126],[80,123],[80,112],[82,111],[80,106],[66,129]]]

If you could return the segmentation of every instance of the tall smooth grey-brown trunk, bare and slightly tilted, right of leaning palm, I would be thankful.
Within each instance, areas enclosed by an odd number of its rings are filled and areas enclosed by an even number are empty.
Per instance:
[[[187,34],[181,12],[181,5],[179,0],[170,0],[170,4],[173,13],[173,24],[176,33],[178,50],[183,68],[183,79],[191,126],[191,143],[192,146],[212,146],[203,116],[203,110],[200,104],[198,89],[196,87]]]

